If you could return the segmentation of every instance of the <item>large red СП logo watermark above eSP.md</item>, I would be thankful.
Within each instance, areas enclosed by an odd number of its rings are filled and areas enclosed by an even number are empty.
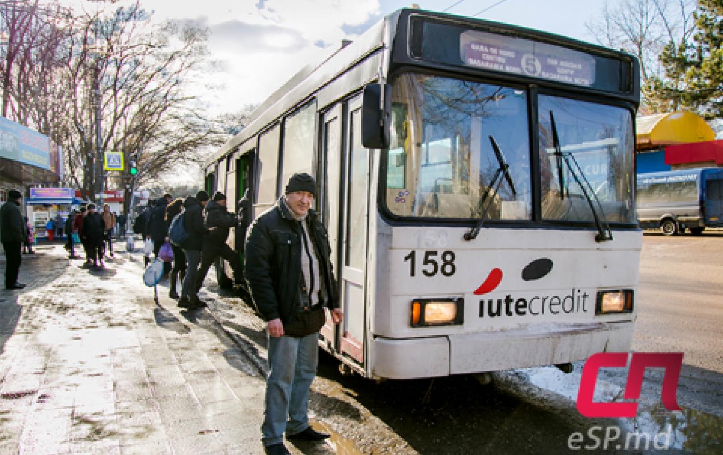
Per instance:
[[[680,369],[683,368],[683,352],[633,352],[625,385],[625,399],[637,399],[643,387],[643,373],[646,368],[664,368],[661,399],[669,411],[680,411],[677,404],[677,385]],[[604,403],[592,401],[595,382],[600,368],[625,368],[628,366],[628,352],[598,352],[592,355],[583,367],[583,376],[578,391],[578,411],[585,417],[636,417],[638,403]]]

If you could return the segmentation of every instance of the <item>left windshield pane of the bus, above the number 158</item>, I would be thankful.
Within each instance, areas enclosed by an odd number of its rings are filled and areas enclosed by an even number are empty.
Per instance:
[[[487,197],[488,220],[529,220],[527,117],[525,90],[421,74],[396,79],[386,179],[390,211],[476,218]],[[506,183],[496,192],[489,187],[500,166],[489,136],[508,160],[516,194]]]

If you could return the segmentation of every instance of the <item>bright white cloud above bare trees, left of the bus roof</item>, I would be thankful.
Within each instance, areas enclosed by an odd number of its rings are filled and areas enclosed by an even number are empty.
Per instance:
[[[66,0],[85,10],[98,7],[88,0]],[[120,5],[134,4],[121,0]],[[208,25],[210,57],[225,70],[209,74],[196,87],[214,112],[238,110],[261,103],[305,64],[317,61],[343,38],[344,30],[380,14],[379,0],[141,0],[153,20],[194,20]],[[348,30],[348,29],[347,29]],[[327,48],[324,50],[323,48]],[[208,84],[226,87],[212,95]]]

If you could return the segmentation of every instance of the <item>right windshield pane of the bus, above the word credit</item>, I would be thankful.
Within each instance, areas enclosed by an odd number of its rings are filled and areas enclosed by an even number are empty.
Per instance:
[[[542,217],[586,222],[594,219],[567,165],[562,167],[565,198],[560,199],[549,120],[552,111],[562,152],[570,152],[575,157],[602,204],[607,222],[635,222],[632,191],[635,134],[630,111],[548,95],[540,95],[538,104]],[[570,164],[582,180],[572,159]]]

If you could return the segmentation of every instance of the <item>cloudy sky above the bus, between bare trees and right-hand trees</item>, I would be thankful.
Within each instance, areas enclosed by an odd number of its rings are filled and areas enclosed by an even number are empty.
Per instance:
[[[309,61],[354,39],[385,14],[412,2],[422,9],[508,22],[591,40],[584,22],[604,0],[140,0],[157,20],[194,20],[207,25],[213,58],[222,70],[205,83],[210,108],[233,112],[265,100]],[[611,0],[612,3],[615,0]]]

